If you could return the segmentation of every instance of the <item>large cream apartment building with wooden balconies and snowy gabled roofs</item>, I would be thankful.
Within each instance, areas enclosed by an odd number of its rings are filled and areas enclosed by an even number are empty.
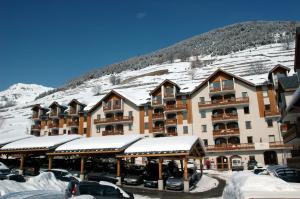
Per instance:
[[[231,168],[233,158],[245,166],[250,159],[283,164],[290,147],[283,144],[277,123],[275,84],[288,70],[275,66],[268,81],[257,83],[218,69],[190,92],[165,80],[138,102],[133,93],[112,90],[87,111],[77,100],[68,107],[54,102],[50,111],[40,111],[46,112],[45,120],[33,121],[41,125],[40,135],[197,135],[206,146],[206,159],[223,170]],[[40,106],[33,108],[34,114],[37,109]]]

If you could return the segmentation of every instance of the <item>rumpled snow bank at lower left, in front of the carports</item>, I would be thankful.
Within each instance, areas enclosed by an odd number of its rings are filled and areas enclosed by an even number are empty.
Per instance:
[[[59,181],[51,172],[41,173],[38,176],[30,178],[27,182],[20,183],[11,180],[0,181],[0,196],[11,192],[32,191],[32,190],[50,190],[64,193],[67,183]]]

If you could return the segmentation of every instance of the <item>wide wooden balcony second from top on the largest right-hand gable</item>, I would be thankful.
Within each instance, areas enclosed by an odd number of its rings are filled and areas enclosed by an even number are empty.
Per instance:
[[[211,108],[211,107],[234,106],[240,104],[249,104],[249,97],[199,102],[198,107],[199,109],[203,109],[203,108]]]

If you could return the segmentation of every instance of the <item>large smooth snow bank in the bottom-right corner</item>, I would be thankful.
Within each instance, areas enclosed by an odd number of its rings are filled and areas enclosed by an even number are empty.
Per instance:
[[[299,192],[287,182],[272,176],[251,172],[235,172],[227,182],[224,199],[246,198],[300,198]]]

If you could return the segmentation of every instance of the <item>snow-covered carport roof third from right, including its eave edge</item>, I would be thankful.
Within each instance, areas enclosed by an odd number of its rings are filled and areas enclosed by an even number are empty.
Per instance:
[[[53,150],[59,145],[80,138],[80,135],[31,137],[4,145],[0,153],[34,153]]]

